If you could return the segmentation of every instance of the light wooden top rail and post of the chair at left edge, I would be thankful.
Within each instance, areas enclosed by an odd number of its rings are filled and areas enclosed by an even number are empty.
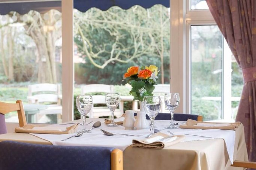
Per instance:
[[[0,113],[7,114],[9,112],[17,111],[20,127],[27,124],[26,116],[23,108],[23,103],[21,100],[16,101],[16,103],[5,103],[0,102]]]

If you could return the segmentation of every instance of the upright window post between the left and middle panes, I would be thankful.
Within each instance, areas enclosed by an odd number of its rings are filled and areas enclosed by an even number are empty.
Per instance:
[[[11,0],[6,1],[6,3],[8,2],[10,3]],[[62,121],[65,122],[74,119],[73,0],[62,0],[62,25],[65,25],[65,27],[62,27]],[[38,125],[45,126],[48,124]],[[19,126],[18,123],[6,123],[8,132],[14,132],[14,129],[17,126]]]

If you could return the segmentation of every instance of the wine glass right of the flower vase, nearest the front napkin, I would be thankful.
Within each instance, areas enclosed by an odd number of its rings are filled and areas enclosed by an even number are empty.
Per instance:
[[[149,116],[149,118],[151,120],[150,134],[146,136],[146,137],[150,137],[155,134],[154,133],[154,120],[161,109],[160,96],[144,96],[143,106],[146,111],[146,114]]]

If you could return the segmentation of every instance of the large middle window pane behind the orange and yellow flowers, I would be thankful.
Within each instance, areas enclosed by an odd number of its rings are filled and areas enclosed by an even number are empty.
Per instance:
[[[118,108],[115,115],[133,109],[133,97],[129,95],[131,86],[122,80],[126,70],[135,65],[156,65],[161,74],[157,83],[167,84],[166,92],[170,92],[169,8],[155,5],[150,9],[133,6],[123,10],[113,6],[107,11],[91,8],[85,13],[74,9],[74,44],[74,97],[81,92],[83,85],[113,85],[112,92],[123,96],[124,102],[123,108]],[[93,92],[90,94],[106,93]],[[93,117],[110,115],[109,109],[105,108],[104,96],[93,102]],[[74,117],[80,118],[79,113],[74,112]]]

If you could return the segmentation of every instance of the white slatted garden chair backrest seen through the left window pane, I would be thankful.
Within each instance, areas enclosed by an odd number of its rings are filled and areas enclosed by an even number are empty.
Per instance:
[[[47,93],[48,92],[48,93]],[[32,84],[29,85],[29,93],[27,99],[29,103],[54,102],[57,105],[61,104],[60,84]]]

